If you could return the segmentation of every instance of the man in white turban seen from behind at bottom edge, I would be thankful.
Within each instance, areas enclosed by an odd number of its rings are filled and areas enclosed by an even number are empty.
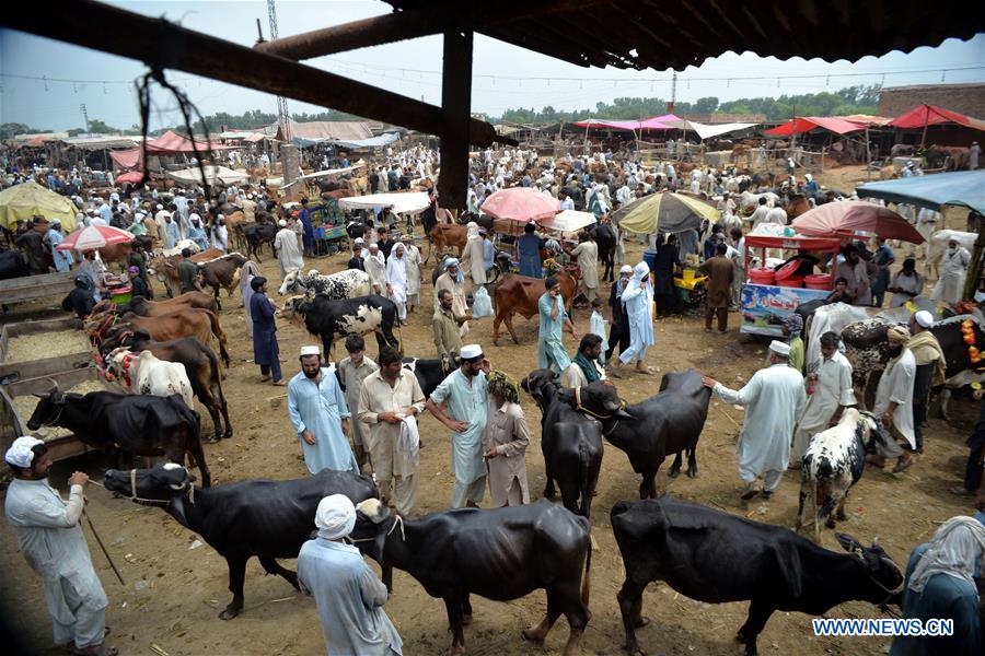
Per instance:
[[[333,494],[318,503],[318,537],[301,547],[298,584],[315,598],[332,656],[403,654],[401,636],[383,610],[386,586],[359,549],[343,541],[355,525],[356,506],[348,496]]]

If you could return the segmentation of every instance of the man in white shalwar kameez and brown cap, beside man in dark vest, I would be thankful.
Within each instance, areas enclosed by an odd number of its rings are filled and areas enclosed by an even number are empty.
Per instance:
[[[890,345],[890,361],[879,378],[876,389],[876,405],[872,413],[890,432],[892,438],[883,444],[876,441],[876,454],[866,456],[866,462],[884,467],[887,458],[897,458],[893,473],[900,473],[913,465],[913,456],[904,449],[899,440],[916,448],[916,432],[913,429],[913,384],[916,380],[916,358],[906,348],[909,329],[892,326],[885,333]]]

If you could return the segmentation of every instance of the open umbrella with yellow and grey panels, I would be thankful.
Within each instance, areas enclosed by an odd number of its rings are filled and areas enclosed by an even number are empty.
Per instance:
[[[719,214],[710,204],[693,196],[663,191],[619,208],[613,212],[612,222],[626,232],[663,234],[699,230],[702,221],[717,222]]]

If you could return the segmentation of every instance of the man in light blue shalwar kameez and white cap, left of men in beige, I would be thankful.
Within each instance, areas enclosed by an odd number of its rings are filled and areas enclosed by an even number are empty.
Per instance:
[[[332,370],[322,368],[317,347],[301,347],[301,372],[288,384],[288,417],[304,452],[308,471],[354,471],[359,465],[346,434],[349,407]]]

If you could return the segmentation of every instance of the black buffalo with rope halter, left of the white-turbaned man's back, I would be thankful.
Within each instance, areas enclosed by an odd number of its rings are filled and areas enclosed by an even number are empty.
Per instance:
[[[318,502],[345,494],[359,503],[378,496],[369,477],[323,469],[293,481],[247,480],[197,489],[183,467],[172,462],[135,471],[106,471],[106,489],[135,501],[160,502],[178,524],[194,530],[225,559],[233,598],[219,617],[231,620],[243,610],[246,561],[259,559],[267,574],[279,574],[298,588],[298,575],[278,558],[298,558],[314,530]]]

